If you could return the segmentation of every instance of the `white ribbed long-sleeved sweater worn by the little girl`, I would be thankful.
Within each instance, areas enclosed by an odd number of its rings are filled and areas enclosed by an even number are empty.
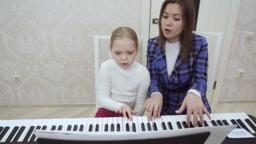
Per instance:
[[[149,85],[149,71],[138,62],[122,69],[114,59],[107,60],[99,70],[99,107],[116,111],[127,104],[142,116]]]

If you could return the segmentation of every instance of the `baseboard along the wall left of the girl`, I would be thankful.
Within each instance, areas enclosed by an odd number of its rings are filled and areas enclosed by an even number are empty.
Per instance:
[[[95,107],[95,103],[86,104],[8,104],[0,105],[5,108],[19,108],[19,107]]]

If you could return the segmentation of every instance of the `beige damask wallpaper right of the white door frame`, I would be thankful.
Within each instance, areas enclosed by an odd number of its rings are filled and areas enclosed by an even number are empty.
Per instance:
[[[246,31],[254,32],[246,38]],[[256,0],[241,0],[228,64],[221,90],[221,100],[256,99]],[[242,79],[237,69],[245,69]]]

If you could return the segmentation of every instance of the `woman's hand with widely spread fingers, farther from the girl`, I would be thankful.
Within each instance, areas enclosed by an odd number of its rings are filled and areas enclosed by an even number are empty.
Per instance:
[[[201,124],[203,125],[203,112],[208,116],[208,118],[211,120],[211,116],[208,112],[208,110],[205,108],[205,105],[203,104],[203,101],[200,97],[195,95],[194,93],[188,93],[185,97],[184,101],[181,104],[181,107],[179,110],[176,111],[176,114],[180,114],[184,111],[184,109],[187,107],[187,126],[190,125],[190,118],[193,114],[193,125],[194,127],[197,126],[197,115],[200,117]]]

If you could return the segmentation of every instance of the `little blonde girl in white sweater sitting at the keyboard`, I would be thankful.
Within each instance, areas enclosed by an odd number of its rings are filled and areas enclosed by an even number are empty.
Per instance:
[[[118,27],[112,32],[109,49],[114,59],[99,69],[99,109],[95,117],[142,116],[150,85],[146,67],[134,61],[139,51],[136,32]]]

